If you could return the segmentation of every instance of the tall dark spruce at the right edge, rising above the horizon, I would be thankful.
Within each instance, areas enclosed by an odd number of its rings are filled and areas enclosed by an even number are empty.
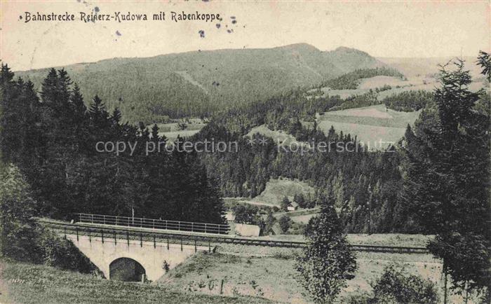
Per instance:
[[[448,275],[459,291],[490,284],[489,116],[476,111],[464,62],[440,71],[440,88],[407,132],[401,198],[427,232],[433,255],[443,260],[445,302]],[[413,136],[414,135],[414,136]]]

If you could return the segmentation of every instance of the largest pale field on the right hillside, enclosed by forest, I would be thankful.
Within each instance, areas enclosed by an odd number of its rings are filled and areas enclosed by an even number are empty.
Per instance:
[[[414,124],[418,116],[419,111],[398,112],[379,104],[325,112],[317,120],[318,127],[325,133],[333,126],[338,132],[349,133],[351,137],[356,136],[358,141],[370,144],[370,148],[385,148],[401,139],[405,127]]]

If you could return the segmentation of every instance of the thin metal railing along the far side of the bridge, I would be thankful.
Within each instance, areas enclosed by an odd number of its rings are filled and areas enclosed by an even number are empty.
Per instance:
[[[76,214],[80,223],[95,223],[102,225],[152,228],[163,230],[179,230],[195,233],[229,233],[228,225],[216,223],[194,223],[189,221],[168,221],[165,219],[145,219],[140,217],[113,216],[104,214]]]

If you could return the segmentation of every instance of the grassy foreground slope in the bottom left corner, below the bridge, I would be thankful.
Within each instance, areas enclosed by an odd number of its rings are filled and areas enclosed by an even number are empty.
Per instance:
[[[0,303],[267,303],[189,293],[158,284],[109,281],[43,265],[0,261]]]

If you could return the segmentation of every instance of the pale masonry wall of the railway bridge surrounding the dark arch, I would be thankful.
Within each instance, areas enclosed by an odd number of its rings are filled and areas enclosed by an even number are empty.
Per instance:
[[[71,240],[107,279],[140,281],[142,275],[155,281],[169,269],[182,263],[196,251],[208,251],[208,247],[193,244],[173,244],[147,240],[126,240],[88,235],[70,235]]]

